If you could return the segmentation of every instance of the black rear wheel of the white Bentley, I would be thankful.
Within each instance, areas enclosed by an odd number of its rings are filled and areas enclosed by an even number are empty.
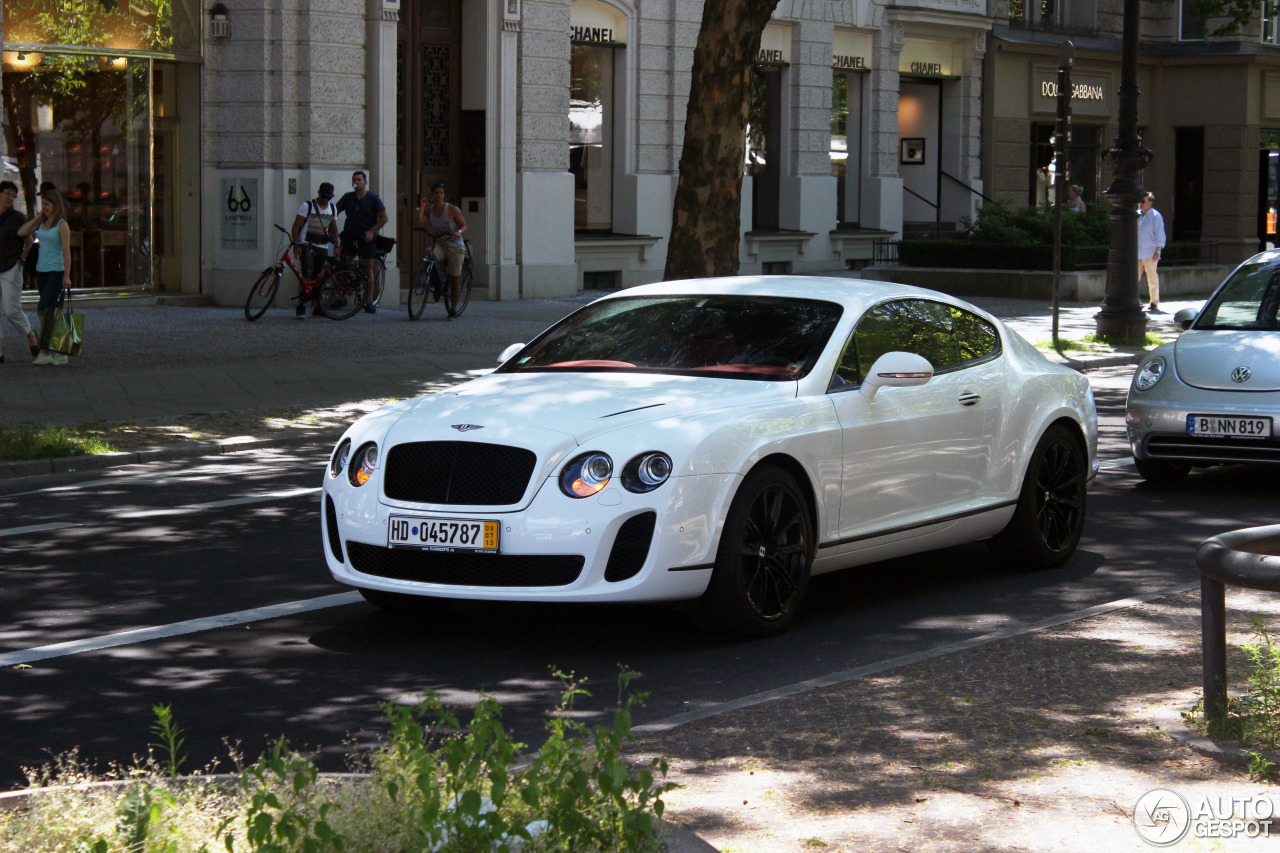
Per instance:
[[[1088,503],[1088,465],[1070,429],[1050,426],[1032,453],[1014,517],[992,540],[1019,570],[1056,569],[1071,558]]]

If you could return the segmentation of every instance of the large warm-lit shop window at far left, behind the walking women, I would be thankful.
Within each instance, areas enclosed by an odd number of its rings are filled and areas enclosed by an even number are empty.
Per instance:
[[[151,60],[4,51],[0,100],[15,206],[38,211],[46,183],[63,196],[74,287],[150,286]]]

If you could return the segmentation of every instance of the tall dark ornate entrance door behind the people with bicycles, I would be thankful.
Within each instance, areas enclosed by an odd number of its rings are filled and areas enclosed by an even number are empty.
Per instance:
[[[410,223],[420,196],[436,181],[460,202],[461,133],[461,0],[419,0],[403,4],[396,45],[398,87],[396,117],[396,263],[402,274],[417,266],[430,241]]]

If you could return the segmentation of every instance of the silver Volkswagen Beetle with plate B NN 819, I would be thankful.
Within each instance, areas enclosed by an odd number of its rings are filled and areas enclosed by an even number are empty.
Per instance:
[[[1240,264],[1185,329],[1152,350],[1129,384],[1125,426],[1138,473],[1152,483],[1192,465],[1280,462],[1280,251]]]

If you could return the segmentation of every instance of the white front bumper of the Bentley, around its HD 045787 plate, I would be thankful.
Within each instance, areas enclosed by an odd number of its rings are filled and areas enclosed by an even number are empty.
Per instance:
[[[736,475],[672,478],[648,494],[617,484],[575,500],[547,480],[518,511],[390,503],[380,480],[326,479],[325,560],[334,579],[387,592],[488,601],[681,601],[710,579]],[[498,553],[389,548],[392,515],[499,523]],[[650,533],[652,530],[652,533]],[[337,540],[337,542],[335,542]]]

